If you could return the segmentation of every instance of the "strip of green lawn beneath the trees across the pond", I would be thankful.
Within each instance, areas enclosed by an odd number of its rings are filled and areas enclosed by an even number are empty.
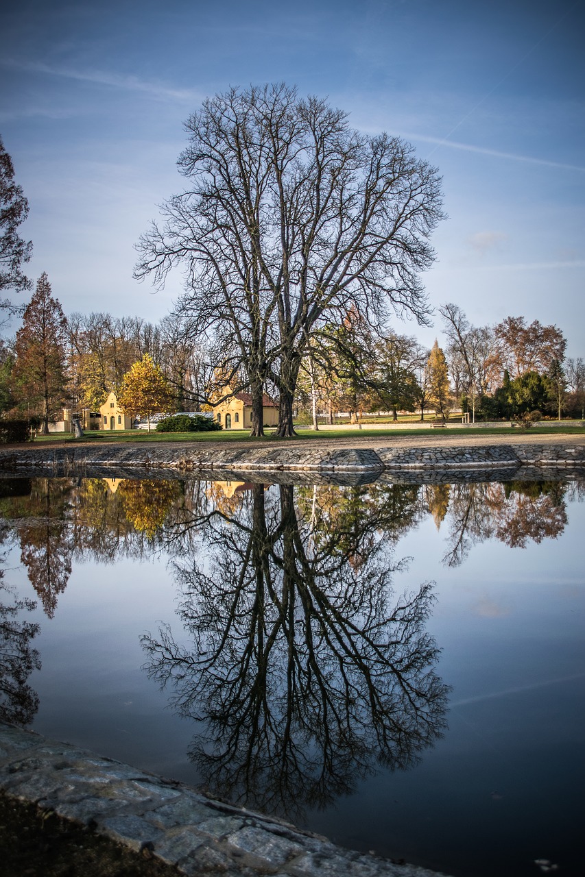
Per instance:
[[[490,427],[488,429],[484,429],[481,427],[466,427],[465,429],[452,429],[446,427],[442,430],[433,430],[429,427],[428,430],[423,429],[408,429],[408,426],[405,424],[403,428],[400,427],[392,427],[387,430],[384,429],[368,429],[367,427],[363,427],[361,430],[357,429],[355,426],[350,427],[345,430],[328,430],[326,427],[321,427],[319,431],[314,432],[310,428],[306,426],[298,427],[299,434],[296,438],[291,439],[292,441],[304,441],[306,439],[328,439],[335,441],[335,439],[382,439],[392,437],[394,439],[400,438],[401,436],[426,436],[430,439],[431,435],[434,437],[437,432],[441,435],[449,432],[454,439],[457,439],[459,436],[489,436],[489,435],[505,435],[509,440],[513,440],[516,435],[522,435],[524,433],[523,430],[519,428],[510,429],[508,425],[506,426],[497,426]],[[575,426],[570,422],[565,422],[561,424],[557,424],[555,422],[551,422],[550,426],[533,426],[531,430],[528,431],[531,435],[584,435],[585,430],[582,426]],[[250,443],[257,442],[271,442],[274,440],[274,434],[272,431],[264,437],[264,439],[250,439],[247,430],[228,430],[228,431],[217,431],[217,432],[151,432],[148,435],[148,432],[141,430],[132,430],[132,431],[88,431],[83,435],[83,439],[74,439],[72,435],[63,435],[62,433],[52,433],[49,436],[38,436],[34,439],[35,445],[40,444],[50,444],[52,442],[71,442],[76,445],[82,444],[90,444],[94,441],[100,442],[112,442],[114,444],[119,444],[120,442],[173,442],[173,441],[189,441],[189,442],[198,442],[198,441],[215,441],[215,442],[233,442],[233,441],[249,441]]]

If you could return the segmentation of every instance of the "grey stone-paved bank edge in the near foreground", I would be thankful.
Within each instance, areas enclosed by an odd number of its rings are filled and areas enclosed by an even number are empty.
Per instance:
[[[136,851],[148,848],[190,877],[437,877],[4,723],[0,788]]]

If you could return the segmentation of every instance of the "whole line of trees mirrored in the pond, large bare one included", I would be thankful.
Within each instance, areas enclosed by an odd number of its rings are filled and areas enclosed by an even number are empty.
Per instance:
[[[573,496],[581,483],[35,478],[4,482],[0,511],[49,618],[75,560],[172,558],[181,624],[143,638],[145,669],[201,723],[190,757],[213,794],[299,817],[413,765],[444,730],[432,586],[395,591],[401,536],[431,514],[457,566],[488,538],[557,537]],[[0,600],[0,714],[28,724],[39,624],[4,581]]]

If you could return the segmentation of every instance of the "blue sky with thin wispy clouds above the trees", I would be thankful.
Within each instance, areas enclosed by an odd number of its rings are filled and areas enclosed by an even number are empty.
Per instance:
[[[183,188],[183,123],[229,85],[296,84],[444,177],[430,302],[474,324],[556,323],[585,356],[585,0],[23,0],[0,32],[0,133],[24,226],[66,313],[157,320],[134,243]],[[415,324],[430,345],[435,328]]]

